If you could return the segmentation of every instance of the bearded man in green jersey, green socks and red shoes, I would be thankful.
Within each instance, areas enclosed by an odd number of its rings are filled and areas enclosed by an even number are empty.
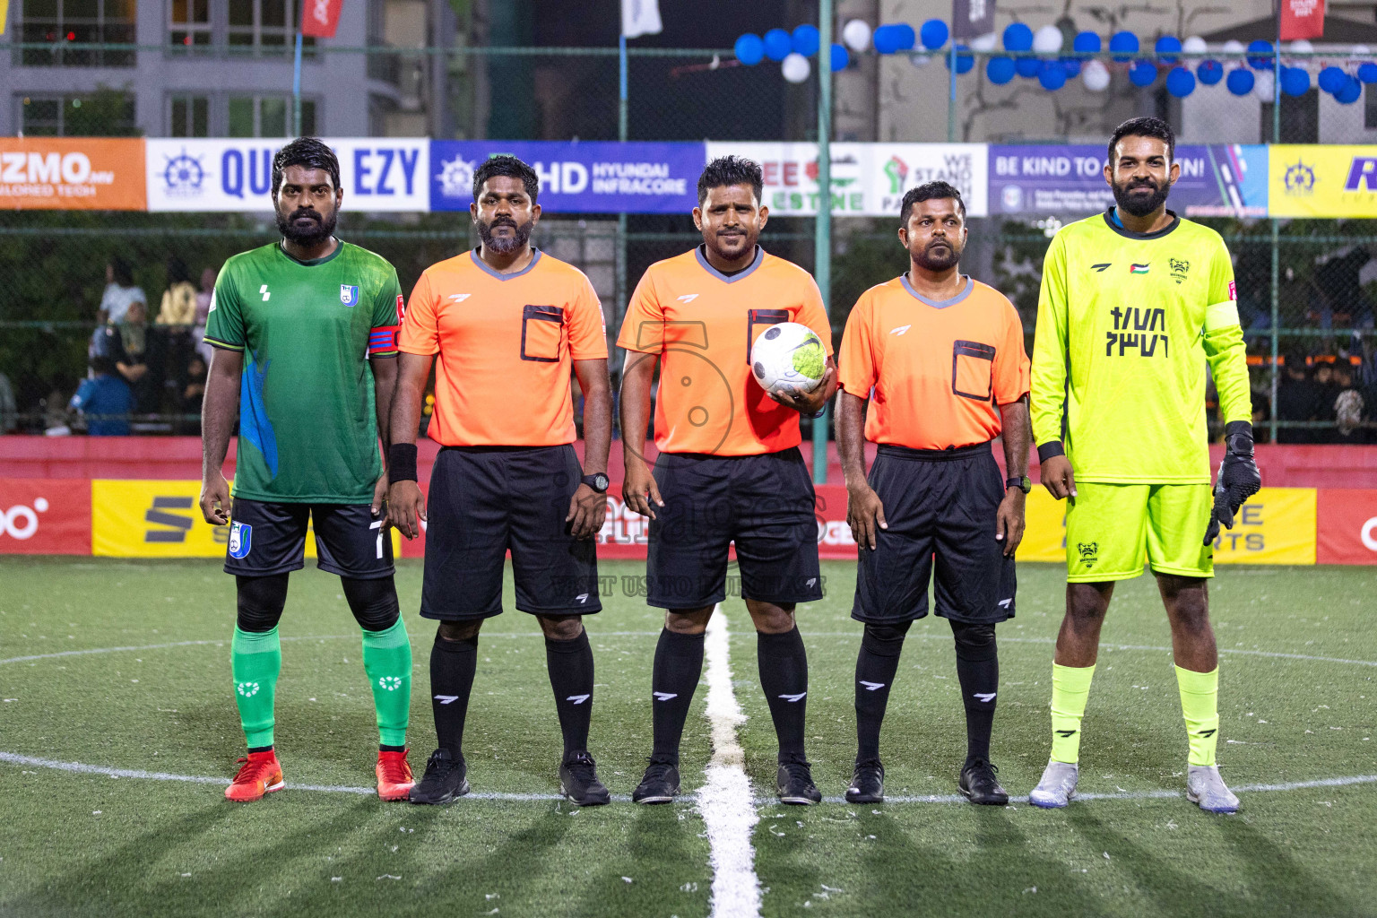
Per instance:
[[[318,567],[339,574],[364,632],[377,713],[377,794],[405,800],[412,648],[398,615],[384,526],[388,431],[402,292],[386,260],[335,238],[343,190],[335,153],[300,138],[273,158],[282,239],[220,270],[205,340],[215,347],[202,407],[201,513],[230,523],[224,571],[238,617],[230,662],[249,754],[224,791],[259,800],[282,787],[273,699],[282,662],[277,622],[289,571],[304,564],[314,519]],[[234,504],[220,473],[240,420]]]

